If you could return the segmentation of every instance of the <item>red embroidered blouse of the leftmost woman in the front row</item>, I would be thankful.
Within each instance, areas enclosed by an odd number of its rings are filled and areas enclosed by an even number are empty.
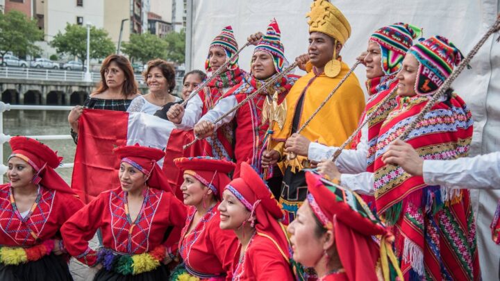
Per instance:
[[[83,207],[72,194],[40,185],[38,197],[23,219],[15,203],[10,184],[0,186],[0,245],[31,247],[48,239],[60,239],[59,229],[69,216]]]

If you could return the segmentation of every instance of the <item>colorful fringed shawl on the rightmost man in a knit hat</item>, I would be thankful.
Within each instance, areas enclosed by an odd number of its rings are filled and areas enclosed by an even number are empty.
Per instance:
[[[374,161],[376,208],[394,225],[396,250],[406,280],[477,280],[476,230],[469,191],[425,185],[381,156],[424,108],[426,96],[397,97],[397,107],[383,122]],[[406,141],[424,159],[467,155],[472,138],[467,105],[453,94],[434,105]]]

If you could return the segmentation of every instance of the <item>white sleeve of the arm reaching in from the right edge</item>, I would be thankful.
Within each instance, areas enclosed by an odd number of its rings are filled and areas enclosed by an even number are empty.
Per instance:
[[[427,185],[468,189],[500,189],[500,152],[456,160],[424,160]]]

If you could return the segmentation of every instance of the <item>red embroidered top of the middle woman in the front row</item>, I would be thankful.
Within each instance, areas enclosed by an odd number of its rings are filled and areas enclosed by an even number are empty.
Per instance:
[[[232,230],[219,228],[218,205],[210,208],[196,227],[186,233],[196,214],[196,207],[188,208],[188,219],[179,242],[179,254],[183,258],[185,269],[191,275],[205,279],[225,276],[226,280],[231,280],[231,265],[238,247],[238,238]]]

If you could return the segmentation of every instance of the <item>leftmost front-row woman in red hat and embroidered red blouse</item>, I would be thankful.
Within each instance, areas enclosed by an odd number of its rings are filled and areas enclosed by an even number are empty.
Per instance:
[[[83,203],[56,169],[62,157],[27,137],[10,139],[0,185],[0,280],[73,280],[60,227]]]

